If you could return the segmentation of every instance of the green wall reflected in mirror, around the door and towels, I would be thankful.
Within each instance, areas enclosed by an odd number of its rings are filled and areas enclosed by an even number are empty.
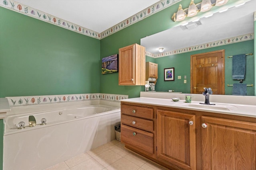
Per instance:
[[[225,85],[238,83],[238,81],[232,79],[232,58],[227,57],[252,53],[254,51],[254,40],[156,58],[155,63],[158,64],[158,80],[155,86],[156,91],[168,92],[168,90],[174,90],[176,92],[190,93],[190,55],[221,49],[225,49]],[[172,67],[174,67],[174,81],[164,81],[164,68]],[[254,84],[255,75],[253,70],[254,55],[246,57],[245,84]],[[184,84],[185,75],[187,76],[186,84]],[[178,79],[178,76],[182,76],[182,79]],[[248,96],[254,96],[254,93],[253,87],[247,88]],[[225,94],[232,95],[232,87],[225,86]]]

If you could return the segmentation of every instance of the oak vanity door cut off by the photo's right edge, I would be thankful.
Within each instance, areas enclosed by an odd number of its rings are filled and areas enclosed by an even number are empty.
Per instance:
[[[205,170],[255,170],[256,123],[202,116]]]

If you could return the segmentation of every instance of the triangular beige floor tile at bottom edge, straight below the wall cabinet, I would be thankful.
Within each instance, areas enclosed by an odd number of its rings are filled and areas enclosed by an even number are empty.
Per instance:
[[[110,166],[107,166],[108,170],[137,170],[138,168],[140,167],[130,162],[126,158],[121,158]]]

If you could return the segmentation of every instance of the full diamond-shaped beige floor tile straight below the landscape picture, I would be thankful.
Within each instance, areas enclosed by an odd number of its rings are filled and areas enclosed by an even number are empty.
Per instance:
[[[118,159],[122,158],[122,156],[120,156],[119,154],[112,150],[106,150],[105,152],[102,152],[94,156],[93,158],[97,160],[100,164],[102,164],[104,167],[107,167],[110,164],[116,162]]]

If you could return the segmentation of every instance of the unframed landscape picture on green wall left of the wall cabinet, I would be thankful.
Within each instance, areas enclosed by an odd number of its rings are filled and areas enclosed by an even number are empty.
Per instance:
[[[102,59],[102,74],[118,72],[118,54],[110,55]]]

